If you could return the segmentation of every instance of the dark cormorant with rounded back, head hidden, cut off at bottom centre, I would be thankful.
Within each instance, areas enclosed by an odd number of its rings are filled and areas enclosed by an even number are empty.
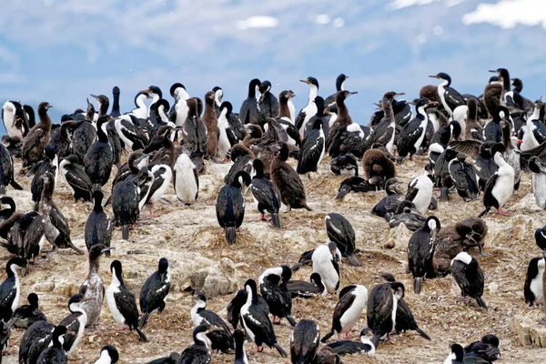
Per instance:
[[[300,319],[290,338],[290,360],[292,363],[315,362],[319,350],[320,329],[311,319]]]

